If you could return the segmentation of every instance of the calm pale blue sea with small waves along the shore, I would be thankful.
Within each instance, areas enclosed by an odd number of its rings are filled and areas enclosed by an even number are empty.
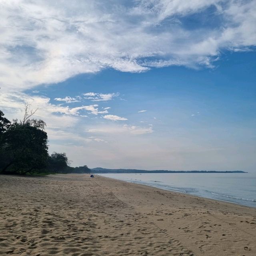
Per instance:
[[[99,174],[127,182],[256,207],[256,173]]]

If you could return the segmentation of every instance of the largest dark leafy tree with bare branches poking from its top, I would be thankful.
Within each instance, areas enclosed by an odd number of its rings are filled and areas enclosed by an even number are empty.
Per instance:
[[[0,113],[0,170],[25,174],[45,168],[48,159],[46,126],[42,120],[28,119],[36,111],[26,104],[23,120],[11,124]]]

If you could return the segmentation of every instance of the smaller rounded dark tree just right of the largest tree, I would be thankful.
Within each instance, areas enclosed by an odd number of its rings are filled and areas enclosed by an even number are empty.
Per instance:
[[[53,152],[48,159],[50,171],[63,172],[69,166],[66,153]]]

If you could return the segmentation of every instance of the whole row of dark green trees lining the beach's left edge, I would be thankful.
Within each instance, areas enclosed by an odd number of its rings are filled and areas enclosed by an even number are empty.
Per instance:
[[[48,153],[46,123],[31,119],[27,104],[23,120],[10,122],[0,110],[0,173],[90,173],[84,165],[70,167],[66,153]]]

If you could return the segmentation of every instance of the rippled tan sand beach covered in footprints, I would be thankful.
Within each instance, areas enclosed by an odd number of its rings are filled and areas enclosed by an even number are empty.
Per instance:
[[[256,209],[88,174],[0,176],[0,255],[256,255]]]

